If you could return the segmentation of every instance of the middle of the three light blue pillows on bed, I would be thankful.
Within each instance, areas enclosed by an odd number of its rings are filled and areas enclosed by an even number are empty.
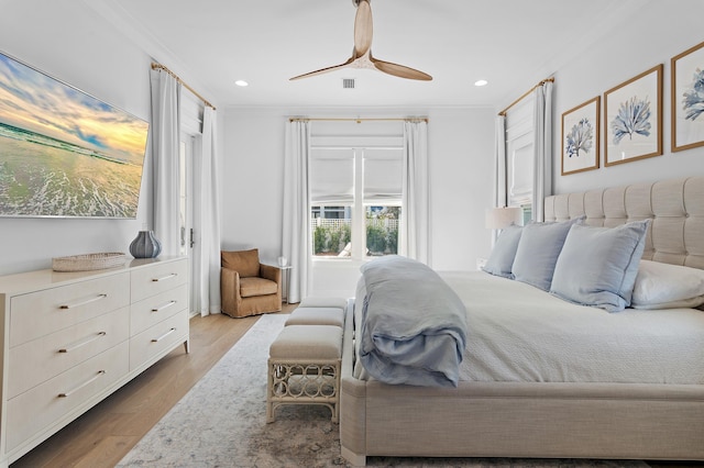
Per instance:
[[[583,220],[584,216],[561,223],[526,225],[518,242],[516,259],[512,266],[514,278],[543,291],[549,290],[554,264],[558,261],[560,250],[562,250],[564,238],[570,227]]]

